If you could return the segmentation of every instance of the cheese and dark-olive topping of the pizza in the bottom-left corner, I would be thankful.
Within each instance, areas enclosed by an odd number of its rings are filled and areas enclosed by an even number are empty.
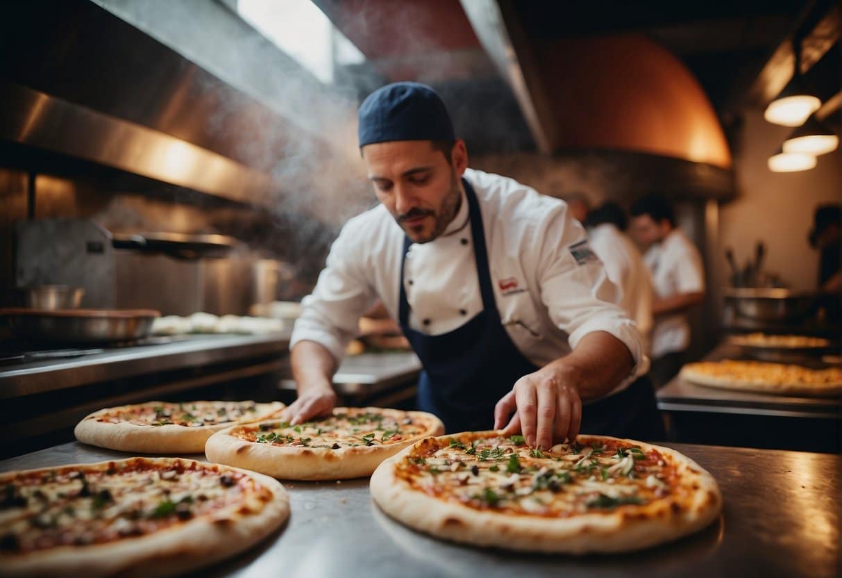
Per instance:
[[[199,517],[233,516],[269,490],[239,472],[187,460],[132,458],[109,470],[56,468],[6,474],[0,553],[106,543]]]

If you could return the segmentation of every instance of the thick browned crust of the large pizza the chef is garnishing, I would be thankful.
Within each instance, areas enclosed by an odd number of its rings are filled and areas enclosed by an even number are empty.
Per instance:
[[[498,432],[476,432],[494,436]],[[578,436],[577,441],[616,440]],[[719,516],[722,495],[716,481],[697,463],[667,447],[632,440],[644,451],[655,449],[673,460],[685,483],[695,487],[690,500],[663,498],[646,506],[625,506],[567,518],[508,515],[479,511],[413,489],[395,475],[394,467],[412,448],[387,459],[371,476],[371,497],[377,506],[416,530],[460,543],[526,552],[589,554],[631,552],[695,533]]]

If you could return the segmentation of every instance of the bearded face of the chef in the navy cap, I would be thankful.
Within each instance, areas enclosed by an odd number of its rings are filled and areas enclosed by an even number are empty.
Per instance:
[[[464,141],[456,141],[450,161],[429,141],[376,142],[362,153],[377,199],[413,243],[429,243],[444,233],[459,209],[459,179],[467,167]]]

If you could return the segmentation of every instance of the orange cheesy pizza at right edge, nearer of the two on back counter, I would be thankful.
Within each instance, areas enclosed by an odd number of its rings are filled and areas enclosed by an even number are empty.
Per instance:
[[[698,361],[681,368],[680,377],[711,388],[795,395],[839,395],[839,367],[810,369],[768,361]]]

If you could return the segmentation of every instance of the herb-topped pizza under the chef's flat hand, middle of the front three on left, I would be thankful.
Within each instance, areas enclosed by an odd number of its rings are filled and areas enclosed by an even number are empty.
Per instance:
[[[335,408],[300,425],[233,425],[210,436],[205,454],[211,462],[280,479],[360,478],[404,447],[444,431],[439,418],[421,411]]]

